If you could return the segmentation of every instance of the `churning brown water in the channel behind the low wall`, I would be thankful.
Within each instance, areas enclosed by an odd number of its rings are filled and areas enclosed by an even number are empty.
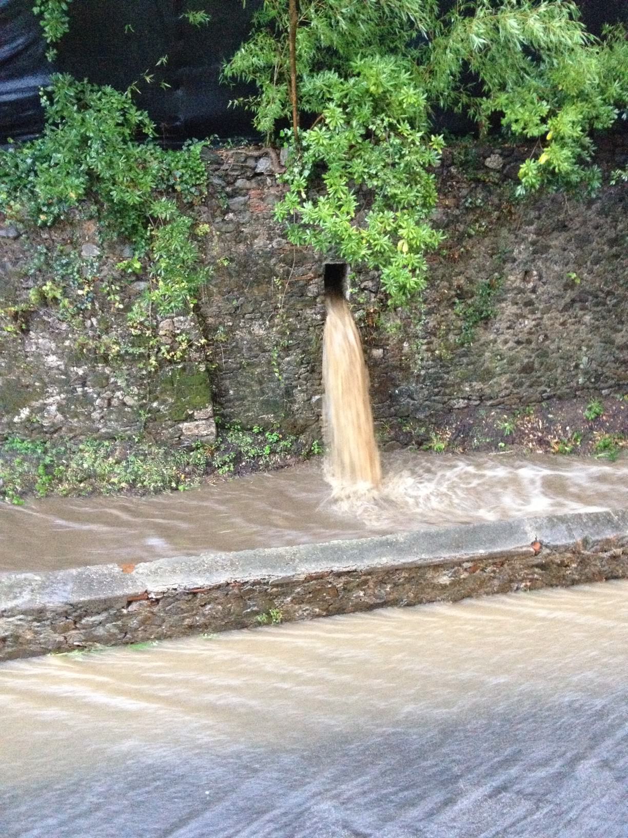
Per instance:
[[[381,491],[360,504],[330,498],[320,463],[151,498],[0,504],[0,572],[609,508],[628,508],[628,460],[399,453],[383,459]]]

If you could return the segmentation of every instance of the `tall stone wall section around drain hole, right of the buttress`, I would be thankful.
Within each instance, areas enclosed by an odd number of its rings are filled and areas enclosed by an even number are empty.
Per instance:
[[[624,162],[626,150],[605,163]],[[389,310],[376,275],[352,277],[380,424],[609,395],[628,383],[628,189],[522,204],[513,189],[524,156],[445,153],[435,223],[448,239],[423,306]],[[216,226],[230,258],[201,307],[218,337],[216,402],[227,419],[303,432],[320,414],[324,261],[291,246],[272,220],[269,157],[236,150],[213,166],[229,201]],[[473,326],[482,292],[492,313]]]

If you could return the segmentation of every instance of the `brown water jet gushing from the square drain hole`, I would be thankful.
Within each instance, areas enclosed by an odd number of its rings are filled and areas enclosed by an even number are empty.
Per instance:
[[[327,294],[322,380],[327,478],[335,495],[363,494],[381,481],[362,342],[347,301]]]

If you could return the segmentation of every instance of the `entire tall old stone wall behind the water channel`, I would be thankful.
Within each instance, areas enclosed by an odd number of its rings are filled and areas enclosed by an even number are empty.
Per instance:
[[[525,153],[471,144],[445,152],[435,223],[448,238],[431,260],[423,303],[391,310],[376,274],[351,278],[384,438],[420,442],[452,416],[464,428],[482,411],[625,392],[628,189],[521,203],[513,190]],[[627,153],[615,140],[600,162],[614,168]],[[51,303],[28,313],[28,328],[0,338],[0,435],[211,439],[213,402],[224,421],[320,436],[325,261],[291,246],[273,220],[275,154],[219,149],[206,159],[212,197],[201,220],[214,278],[193,313],[159,325],[172,351],[157,369],[109,345],[145,287],[116,269],[128,243],[104,246],[94,223],[80,218],[39,241],[4,228],[0,308],[13,301],[19,309],[45,279],[46,266],[28,268],[42,243],[79,259],[97,280],[91,308],[74,321]],[[112,305],[107,290],[116,282]],[[183,354],[182,341],[190,345]]]

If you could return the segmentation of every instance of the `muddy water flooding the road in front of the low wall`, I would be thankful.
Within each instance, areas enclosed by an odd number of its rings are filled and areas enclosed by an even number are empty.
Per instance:
[[[2,838],[626,838],[628,582],[0,665]]]

